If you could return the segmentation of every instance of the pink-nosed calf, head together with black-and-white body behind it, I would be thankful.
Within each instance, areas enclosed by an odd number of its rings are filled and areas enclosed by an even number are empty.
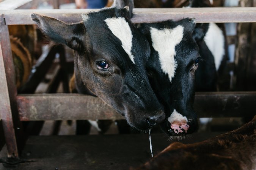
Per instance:
[[[193,0],[190,6],[209,5],[208,0]],[[195,24],[194,19],[137,27],[151,44],[147,70],[152,88],[165,107],[162,129],[171,136],[193,133],[198,127],[193,109],[195,88],[216,91],[217,71],[223,72],[227,59],[222,30],[215,23]]]

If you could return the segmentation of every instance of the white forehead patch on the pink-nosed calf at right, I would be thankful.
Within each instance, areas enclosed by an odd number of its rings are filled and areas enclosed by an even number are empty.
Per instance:
[[[177,63],[174,59],[176,55],[175,46],[183,38],[183,26],[178,25],[173,29],[150,29],[152,46],[159,54],[160,66],[163,73],[168,74],[170,82],[174,77]]]

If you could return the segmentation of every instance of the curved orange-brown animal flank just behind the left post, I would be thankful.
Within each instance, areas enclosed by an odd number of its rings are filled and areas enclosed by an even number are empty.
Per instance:
[[[30,75],[32,59],[28,49],[22,45],[19,39],[10,36],[10,42],[15,66],[16,86],[19,88],[27,81]]]

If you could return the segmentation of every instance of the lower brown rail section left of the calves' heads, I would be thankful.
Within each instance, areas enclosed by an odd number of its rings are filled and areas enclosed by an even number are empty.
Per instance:
[[[123,119],[101,99],[79,94],[17,96],[21,121]],[[97,117],[97,118],[96,118]]]

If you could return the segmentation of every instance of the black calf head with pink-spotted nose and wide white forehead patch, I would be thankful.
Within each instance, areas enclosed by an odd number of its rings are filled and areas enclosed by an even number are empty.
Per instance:
[[[137,28],[151,44],[147,62],[149,81],[165,108],[162,129],[171,136],[193,133],[197,116],[193,109],[195,71],[200,60],[197,39],[203,28],[194,19],[143,23]]]

